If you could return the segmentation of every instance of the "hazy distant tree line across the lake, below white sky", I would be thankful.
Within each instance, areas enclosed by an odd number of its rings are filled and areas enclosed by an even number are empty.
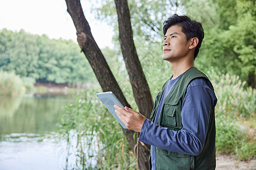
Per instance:
[[[72,40],[49,39],[2,29],[0,70],[13,71],[40,83],[86,83],[95,81],[93,71]]]

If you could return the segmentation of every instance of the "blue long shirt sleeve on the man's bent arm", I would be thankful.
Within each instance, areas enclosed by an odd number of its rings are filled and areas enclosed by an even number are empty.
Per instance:
[[[146,119],[139,141],[168,151],[199,155],[204,147],[210,112],[216,103],[213,87],[208,80],[194,79],[187,87],[181,106],[183,128],[179,131],[168,130]]]

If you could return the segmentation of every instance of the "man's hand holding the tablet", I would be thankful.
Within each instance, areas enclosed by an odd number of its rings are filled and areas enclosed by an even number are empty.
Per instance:
[[[131,108],[125,107],[125,109],[123,109],[118,105],[114,105],[114,108],[116,109],[115,113],[117,113],[119,119],[128,129],[141,132],[141,128],[144,121],[146,120],[146,117]]]

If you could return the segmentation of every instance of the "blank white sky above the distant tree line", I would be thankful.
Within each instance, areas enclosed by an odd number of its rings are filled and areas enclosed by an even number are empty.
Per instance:
[[[81,0],[85,18],[100,48],[112,47],[112,28],[93,19],[90,3]],[[76,28],[67,12],[65,0],[0,0],[0,29],[47,35],[50,39],[66,39],[76,42]],[[104,28],[102,30],[102,28]],[[104,33],[99,33],[104,31]]]

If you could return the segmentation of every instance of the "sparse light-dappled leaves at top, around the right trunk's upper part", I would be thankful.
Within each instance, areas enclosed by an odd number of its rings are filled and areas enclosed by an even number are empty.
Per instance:
[[[163,21],[170,17],[170,14],[179,12],[182,4],[181,1],[176,0],[130,0],[128,1],[128,5],[134,40],[141,39],[143,43],[149,44],[150,42],[159,42],[162,40]],[[97,0],[97,3],[93,3],[91,12],[94,13],[97,19],[108,20],[108,24],[114,28],[114,43],[116,46],[119,46],[117,12],[114,1]]]

